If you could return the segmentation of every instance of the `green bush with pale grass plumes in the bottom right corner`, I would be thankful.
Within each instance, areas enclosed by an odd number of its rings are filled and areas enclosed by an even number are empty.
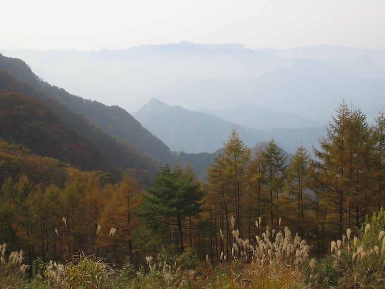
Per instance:
[[[384,288],[385,211],[367,219],[353,236],[346,230],[342,240],[331,242],[331,254],[322,259],[314,282],[341,288]]]

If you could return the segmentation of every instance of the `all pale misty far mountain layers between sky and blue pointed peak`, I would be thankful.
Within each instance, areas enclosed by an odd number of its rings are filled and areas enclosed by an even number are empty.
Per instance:
[[[384,105],[381,49],[248,49],[182,41],[120,50],[1,51],[24,59],[49,83],[127,111],[153,97],[191,110],[247,102],[326,123],[343,98],[360,106],[369,121]]]

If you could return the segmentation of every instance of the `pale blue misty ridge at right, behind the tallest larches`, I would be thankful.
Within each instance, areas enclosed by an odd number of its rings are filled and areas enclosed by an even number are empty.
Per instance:
[[[385,69],[369,57],[293,61],[257,78],[205,79],[158,96],[189,109],[225,109],[248,102],[279,113],[327,122],[342,99],[361,107],[369,121],[384,106]]]

